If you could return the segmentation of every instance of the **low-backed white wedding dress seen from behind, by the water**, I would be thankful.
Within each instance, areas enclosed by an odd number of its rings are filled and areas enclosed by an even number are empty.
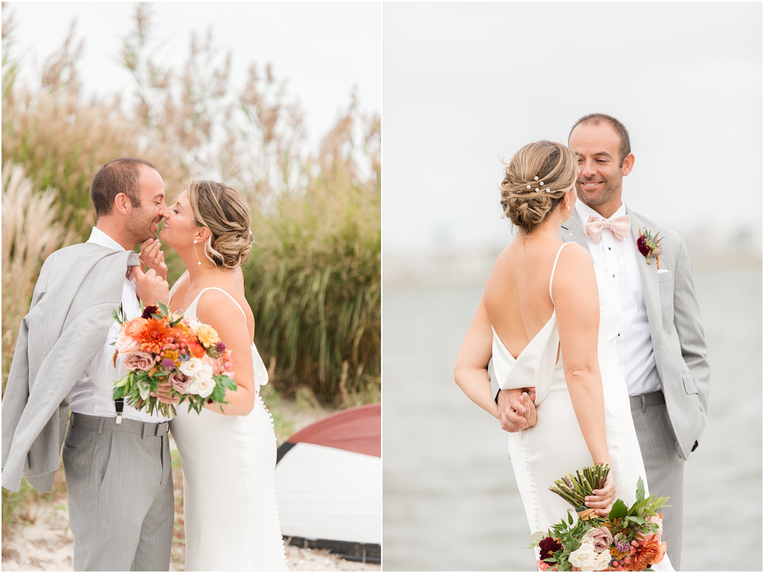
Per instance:
[[[557,251],[552,266],[549,277],[550,298],[557,261],[567,244],[570,243],[562,244]],[[617,284],[610,275],[597,267],[594,267],[594,272],[600,299],[597,356],[604,393],[610,475],[617,488],[617,497],[630,506],[636,500],[637,479],[641,477],[645,482],[646,494],[648,487],[642,452],[639,450],[631,417],[629,393],[616,348],[621,320],[620,296]],[[562,497],[549,491],[549,486],[558,478],[592,464],[565,383],[562,358],[557,361],[559,342],[555,310],[549,322],[517,358],[510,354],[494,330],[494,371],[500,387],[536,387],[536,425],[509,435],[510,459],[531,533],[546,532],[550,526],[559,523],[568,510],[572,510],[571,505]],[[660,495],[660,492],[656,493]],[[539,558],[538,547],[536,558]],[[655,571],[673,571],[669,555],[665,555],[662,562],[652,568]]]

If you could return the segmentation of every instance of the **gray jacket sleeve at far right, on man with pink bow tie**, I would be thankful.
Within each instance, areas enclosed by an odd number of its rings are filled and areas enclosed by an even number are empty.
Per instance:
[[[705,425],[711,369],[708,366],[706,338],[701,324],[701,308],[695,296],[690,257],[685,240],[680,238],[674,284],[674,325],[679,337],[681,356],[698,388],[698,403]]]

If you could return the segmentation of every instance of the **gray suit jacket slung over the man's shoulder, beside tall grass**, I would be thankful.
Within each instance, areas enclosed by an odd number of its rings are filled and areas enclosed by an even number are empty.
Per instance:
[[[2,486],[21,477],[53,488],[69,413],[68,395],[99,348],[138,256],[74,244],[47,257],[21,321],[2,400]]]

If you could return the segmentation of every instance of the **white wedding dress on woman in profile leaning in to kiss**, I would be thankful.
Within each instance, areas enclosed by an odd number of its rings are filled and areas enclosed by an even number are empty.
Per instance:
[[[184,316],[196,317],[206,290]],[[252,361],[257,397],[248,416],[197,415],[182,403],[170,421],[183,466],[186,571],[287,571],[274,490],[276,436],[259,392],[268,373],[254,343]]]

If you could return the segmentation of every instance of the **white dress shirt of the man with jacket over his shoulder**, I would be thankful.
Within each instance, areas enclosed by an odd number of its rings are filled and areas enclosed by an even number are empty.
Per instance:
[[[102,247],[114,249],[115,251],[125,251],[121,244],[96,227],[93,227],[87,242],[100,244]],[[125,277],[125,286],[122,287],[122,309],[128,319],[141,316],[141,304],[138,302],[138,296],[135,294],[135,281],[128,280],[127,277]],[[114,367],[112,358],[114,357],[115,348],[110,343],[117,340],[119,328],[115,321],[108,329],[106,342],[101,350],[95,354],[92,362],[70,391],[69,409],[72,412],[105,418],[117,417],[112,392],[115,381],[123,377],[126,371],[122,366],[122,358],[117,358],[117,366]],[[125,408],[122,410],[122,416],[141,422],[167,421],[167,418],[164,416],[150,416],[146,412],[135,410],[128,406],[127,402],[125,402]]]

